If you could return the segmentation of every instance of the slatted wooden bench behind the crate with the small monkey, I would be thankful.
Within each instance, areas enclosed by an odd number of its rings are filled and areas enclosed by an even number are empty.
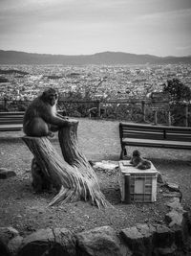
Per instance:
[[[127,155],[126,146],[191,150],[191,128],[119,123],[119,136],[120,159]]]

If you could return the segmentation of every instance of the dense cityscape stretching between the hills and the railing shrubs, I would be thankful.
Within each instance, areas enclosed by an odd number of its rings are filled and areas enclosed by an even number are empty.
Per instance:
[[[63,97],[88,91],[92,100],[142,99],[174,78],[191,88],[191,65],[1,65],[0,100],[31,101],[48,87]]]

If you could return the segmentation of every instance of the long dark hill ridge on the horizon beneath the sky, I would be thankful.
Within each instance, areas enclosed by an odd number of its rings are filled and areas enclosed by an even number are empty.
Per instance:
[[[103,52],[95,55],[48,55],[32,54],[17,51],[0,50],[0,64],[167,64],[191,63],[191,56],[187,57],[157,57],[151,55],[136,55],[121,52]]]

